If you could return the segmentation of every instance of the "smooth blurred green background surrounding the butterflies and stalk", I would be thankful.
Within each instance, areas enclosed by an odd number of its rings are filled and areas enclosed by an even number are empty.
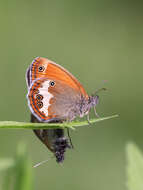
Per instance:
[[[89,94],[100,93],[96,127],[71,132],[65,162],[35,170],[34,189],[125,190],[125,145],[143,148],[142,1],[43,0],[0,3],[0,120],[29,121],[25,71],[44,56],[72,72]],[[106,83],[104,81],[107,81]],[[91,117],[94,114],[91,113]],[[28,145],[33,164],[51,156],[31,130],[1,130],[0,157]]]

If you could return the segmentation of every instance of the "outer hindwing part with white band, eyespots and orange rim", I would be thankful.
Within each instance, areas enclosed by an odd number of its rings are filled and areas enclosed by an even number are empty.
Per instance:
[[[49,92],[51,80],[47,78],[35,80],[27,95],[28,105],[32,114],[39,121],[48,121],[53,118],[53,115],[49,114],[50,101],[53,95]]]

